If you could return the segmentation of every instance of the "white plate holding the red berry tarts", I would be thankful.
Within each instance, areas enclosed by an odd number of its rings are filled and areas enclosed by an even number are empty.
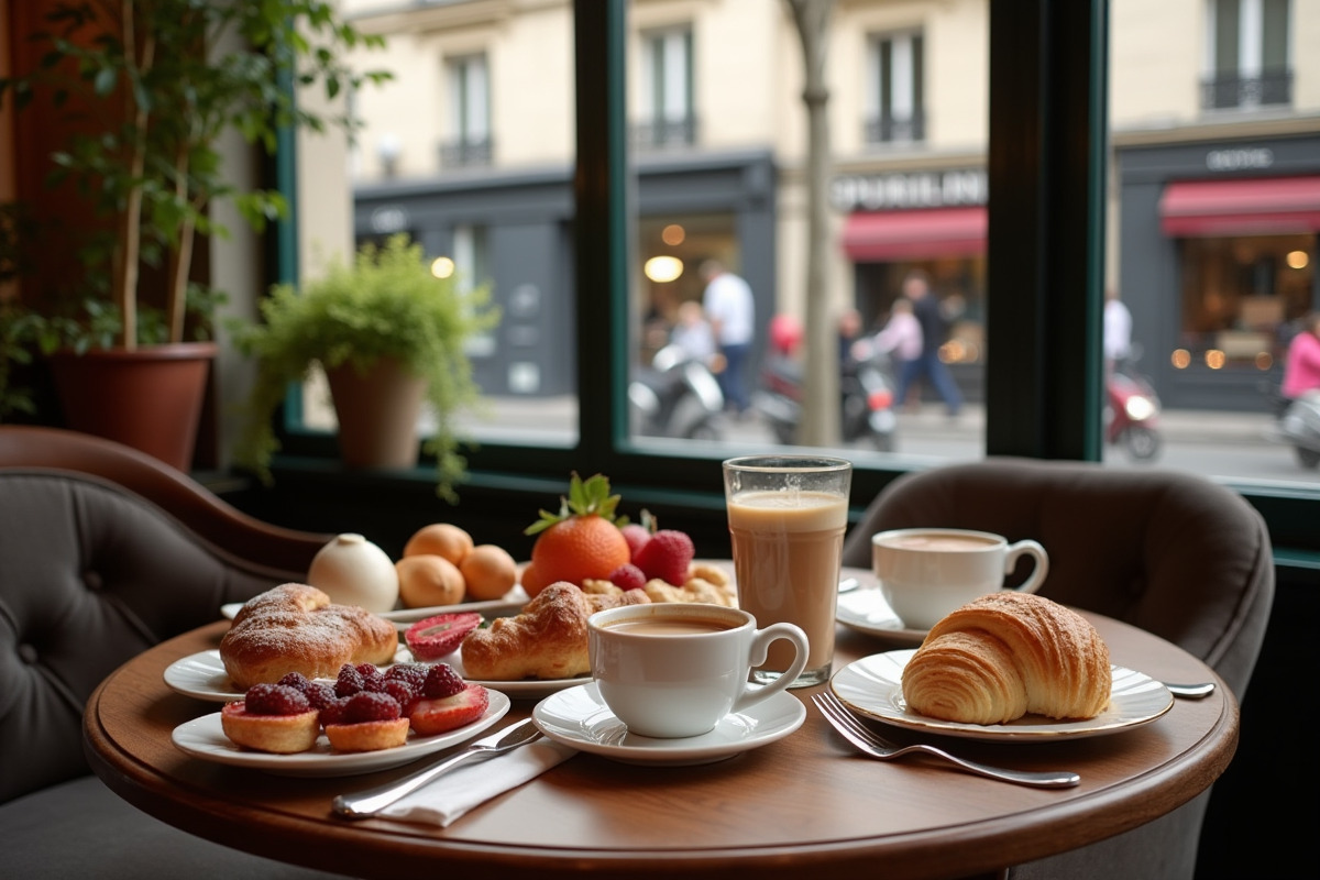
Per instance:
[[[490,693],[490,706],[479,719],[436,736],[417,736],[408,731],[408,741],[397,748],[383,748],[375,752],[335,752],[330,740],[322,732],[317,744],[309,752],[297,755],[272,755],[253,752],[235,745],[220,727],[220,714],[211,712],[194,718],[174,728],[172,739],[181,751],[205,761],[248,767],[280,776],[354,776],[371,773],[391,767],[416,761],[433,752],[466,741],[503,718],[510,708],[510,699],[498,690]]]

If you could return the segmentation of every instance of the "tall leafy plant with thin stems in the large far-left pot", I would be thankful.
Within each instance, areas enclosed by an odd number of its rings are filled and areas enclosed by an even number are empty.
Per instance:
[[[45,9],[46,29],[32,34],[40,62],[0,79],[0,98],[37,104],[42,123],[55,121],[61,139],[48,182],[94,219],[86,230],[61,228],[63,236],[87,234],[71,278],[59,277],[62,267],[44,267],[40,307],[25,285],[29,310],[41,315],[28,335],[51,356],[57,384],[82,392],[63,408],[74,427],[95,431],[78,420],[112,402],[117,424],[96,433],[132,442],[117,434],[157,416],[148,434],[176,426],[190,434],[186,453],[170,454],[182,460],[166,459],[187,467],[215,355],[210,311],[220,299],[193,278],[197,239],[228,234],[210,212],[220,199],[231,199],[256,232],[286,207],[279,191],[232,182],[219,139],[236,131],[273,153],[281,131],[347,125],[301,108],[293,86],[334,98],[381,82],[388,74],[354,73],[341,55],[384,44],[337,20],[326,0],[46,0]],[[77,305],[53,307],[61,299]],[[186,322],[190,303],[199,319]],[[96,363],[75,375],[88,355]],[[189,377],[174,380],[189,400],[92,384],[154,376],[144,359],[190,363]],[[132,402],[147,406],[125,414]]]

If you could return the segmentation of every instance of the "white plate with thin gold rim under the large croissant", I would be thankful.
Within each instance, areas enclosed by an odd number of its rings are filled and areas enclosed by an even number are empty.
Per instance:
[[[1026,715],[1007,724],[964,724],[919,715],[903,699],[903,668],[915,649],[871,654],[834,673],[830,689],[849,708],[908,730],[1006,743],[1104,736],[1148,724],[1173,706],[1173,695],[1160,682],[1131,669],[1114,666],[1109,708],[1086,720],[1059,722]]]

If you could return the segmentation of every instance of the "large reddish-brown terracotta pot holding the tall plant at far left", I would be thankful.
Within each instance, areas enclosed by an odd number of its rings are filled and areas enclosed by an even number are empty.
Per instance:
[[[218,351],[214,342],[186,342],[55,352],[50,367],[65,424],[187,471]]]

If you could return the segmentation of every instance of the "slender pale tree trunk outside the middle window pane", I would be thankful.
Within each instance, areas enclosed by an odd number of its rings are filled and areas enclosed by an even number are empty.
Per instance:
[[[797,442],[837,446],[840,441],[838,331],[832,314],[829,248],[829,90],[825,46],[834,0],[788,0],[803,44],[807,104],[807,376]]]

